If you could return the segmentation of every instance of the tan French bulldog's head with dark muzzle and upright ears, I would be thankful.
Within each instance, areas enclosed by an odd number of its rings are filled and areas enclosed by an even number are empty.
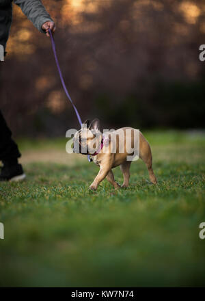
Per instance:
[[[90,120],[86,120],[82,128],[75,133],[73,138],[73,153],[81,153],[83,155],[93,155],[100,146],[102,133],[100,133],[100,122],[94,119],[90,124]]]

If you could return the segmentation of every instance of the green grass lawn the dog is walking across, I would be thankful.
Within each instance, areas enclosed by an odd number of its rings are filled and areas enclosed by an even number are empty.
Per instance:
[[[27,181],[0,183],[1,286],[205,286],[204,135],[144,134],[159,183],[138,160],[118,191],[89,191],[98,167],[66,139],[19,141]]]

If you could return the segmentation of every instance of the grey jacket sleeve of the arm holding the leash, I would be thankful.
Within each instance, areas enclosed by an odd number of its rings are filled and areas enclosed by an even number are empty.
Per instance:
[[[14,0],[14,3],[20,6],[22,12],[40,32],[44,32],[41,27],[45,22],[53,21],[40,0]]]

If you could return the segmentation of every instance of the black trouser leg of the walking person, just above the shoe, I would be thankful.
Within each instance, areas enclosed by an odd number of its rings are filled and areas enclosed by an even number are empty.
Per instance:
[[[3,162],[15,161],[20,157],[17,144],[12,140],[12,132],[3,118],[0,110],[0,160]]]

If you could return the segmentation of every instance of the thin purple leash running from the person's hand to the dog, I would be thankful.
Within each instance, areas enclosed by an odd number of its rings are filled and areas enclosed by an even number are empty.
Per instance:
[[[49,29],[49,34],[50,34],[50,38],[51,38],[51,44],[52,44],[52,48],[53,48],[53,54],[54,54],[54,57],[55,57],[55,62],[56,62],[57,70],[58,70],[58,73],[59,73],[59,77],[60,77],[60,79],[61,79],[61,84],[62,84],[62,86],[63,86],[63,88],[64,88],[64,92],[66,93],[66,96],[68,97],[70,103],[72,104],[72,107],[73,107],[73,109],[74,109],[75,114],[77,115],[77,118],[78,118],[78,120],[79,120],[79,125],[80,125],[80,127],[82,127],[83,122],[82,122],[82,120],[81,120],[81,116],[79,115],[79,112],[78,112],[78,110],[77,110],[77,107],[76,107],[76,106],[74,105],[74,103],[72,102],[72,99],[71,99],[71,97],[70,97],[70,94],[68,93],[68,90],[67,90],[66,85],[65,85],[65,82],[64,82],[64,77],[63,77],[63,75],[62,75],[62,73],[61,73],[61,68],[60,68],[59,62],[58,62],[58,60],[57,60],[57,53],[56,53],[56,49],[55,49],[55,42],[54,42],[54,39],[53,39],[53,34],[52,34],[52,32],[51,32],[51,29]],[[87,155],[87,159],[88,159],[89,162],[91,161],[89,155]]]

